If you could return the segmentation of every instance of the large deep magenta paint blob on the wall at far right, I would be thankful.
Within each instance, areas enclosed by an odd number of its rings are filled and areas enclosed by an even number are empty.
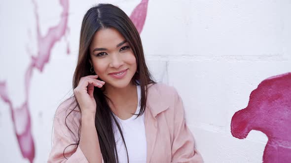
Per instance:
[[[291,73],[262,81],[252,91],[247,108],[233,115],[232,136],[243,139],[251,130],[268,137],[263,163],[290,163]]]

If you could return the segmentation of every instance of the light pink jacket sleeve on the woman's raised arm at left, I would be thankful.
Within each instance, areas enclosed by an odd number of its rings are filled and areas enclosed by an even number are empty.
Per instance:
[[[74,145],[78,141],[78,128],[80,126],[80,112],[73,112],[66,119],[68,102],[64,102],[57,109],[52,134],[52,149],[48,163],[88,163],[79,146]],[[69,129],[69,128],[70,129]],[[71,130],[71,131],[70,131]],[[73,144],[73,145],[71,145]],[[65,157],[64,157],[65,155]]]

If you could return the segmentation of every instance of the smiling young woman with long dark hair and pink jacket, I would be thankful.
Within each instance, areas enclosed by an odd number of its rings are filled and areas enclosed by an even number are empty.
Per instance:
[[[83,18],[73,96],[56,111],[48,162],[202,162],[180,96],[151,79],[140,35],[116,6]]]

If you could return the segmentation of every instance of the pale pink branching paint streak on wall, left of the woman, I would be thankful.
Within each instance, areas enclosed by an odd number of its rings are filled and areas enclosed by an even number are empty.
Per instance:
[[[57,41],[59,41],[65,35],[66,29],[68,29],[67,24],[69,13],[69,0],[60,0],[60,4],[63,7],[61,20],[57,26],[50,27],[46,35],[42,36],[40,34],[39,28],[37,4],[34,0],[33,3],[35,5],[38,52],[36,56],[32,56],[31,63],[28,66],[25,74],[24,84],[26,98],[25,102],[23,102],[21,107],[13,108],[12,101],[10,100],[7,93],[6,82],[5,81],[0,82],[0,97],[9,106],[12,116],[13,128],[18,140],[21,154],[24,158],[28,159],[30,163],[32,163],[35,158],[35,144],[32,136],[31,117],[28,107],[29,90],[33,70],[34,68],[36,68],[40,72],[42,72],[44,65],[48,63],[52,47]],[[68,51],[67,53],[70,52],[69,48],[67,49],[67,51]]]

